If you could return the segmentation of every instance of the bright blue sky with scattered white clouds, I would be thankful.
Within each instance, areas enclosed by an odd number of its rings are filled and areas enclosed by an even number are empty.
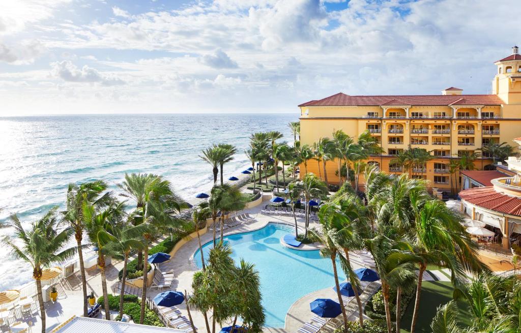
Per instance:
[[[0,116],[490,93],[519,0],[0,0]]]

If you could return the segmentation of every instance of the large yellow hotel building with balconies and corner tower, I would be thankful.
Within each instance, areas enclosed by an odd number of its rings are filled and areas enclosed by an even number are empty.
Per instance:
[[[331,137],[334,130],[354,138],[369,130],[384,152],[366,162],[374,162],[384,172],[400,174],[402,170],[390,161],[408,145],[424,148],[435,158],[427,163],[423,175],[431,187],[449,191],[450,159],[487,142],[510,144],[521,136],[521,55],[517,46],[512,50],[512,55],[494,62],[497,73],[489,95],[465,95],[462,89],[450,87],[441,95],[338,93],[301,104],[301,144],[312,145],[321,137]],[[483,170],[491,163],[482,157],[475,161],[475,168]],[[317,168],[317,163],[308,162],[308,172],[319,175]],[[337,162],[328,162],[326,169],[328,181],[338,184]]]

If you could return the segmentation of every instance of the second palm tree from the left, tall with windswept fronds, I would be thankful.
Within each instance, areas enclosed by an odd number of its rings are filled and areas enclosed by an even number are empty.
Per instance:
[[[103,208],[112,199],[108,193],[102,195],[107,189],[107,184],[103,181],[94,181],[83,184],[69,184],[67,188],[67,199],[65,211],[63,214],[63,222],[74,230],[76,244],[78,249],[78,261],[80,264],[81,288],[83,291],[83,316],[87,315],[87,281],[85,278],[85,265],[83,264],[83,204],[88,202],[98,208]]]

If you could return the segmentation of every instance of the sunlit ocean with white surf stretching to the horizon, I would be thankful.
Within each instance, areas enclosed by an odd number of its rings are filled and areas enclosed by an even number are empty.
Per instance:
[[[166,177],[186,200],[212,187],[212,167],[199,155],[214,143],[237,146],[225,179],[250,166],[244,155],[251,133],[279,131],[299,114],[95,114],[0,118],[0,236],[16,213],[24,226],[53,206],[64,207],[67,185],[97,179],[111,190],[125,173]],[[73,242],[72,242],[73,243]],[[71,243],[71,244],[72,244]],[[0,290],[32,279],[29,265],[0,247]]]

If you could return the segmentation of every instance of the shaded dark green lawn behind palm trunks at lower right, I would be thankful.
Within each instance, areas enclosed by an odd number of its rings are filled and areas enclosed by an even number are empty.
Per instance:
[[[421,297],[420,297],[420,313],[418,315],[418,322],[416,324],[416,332],[430,332],[430,323],[432,318],[436,314],[438,306],[448,303],[452,300],[452,284],[450,282],[442,281],[424,281],[421,284]],[[460,308],[464,308],[464,305],[460,304]],[[414,299],[411,300],[407,310],[403,315],[401,322],[401,332],[410,332],[411,321],[414,312]],[[460,321],[469,325],[468,317],[459,316]]]

